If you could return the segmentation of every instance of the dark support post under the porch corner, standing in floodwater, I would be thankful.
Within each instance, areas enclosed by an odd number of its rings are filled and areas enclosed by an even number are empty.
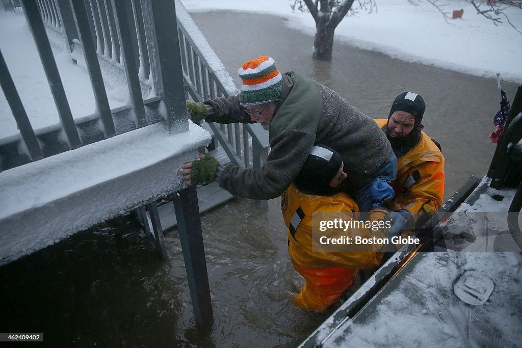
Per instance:
[[[196,186],[178,191],[173,200],[194,316],[198,326],[207,327],[213,314]]]

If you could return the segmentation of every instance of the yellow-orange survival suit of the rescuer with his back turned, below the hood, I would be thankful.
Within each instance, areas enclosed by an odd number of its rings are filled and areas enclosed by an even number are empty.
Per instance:
[[[312,250],[312,214],[314,219],[347,216],[359,220],[359,208],[346,193],[335,196],[306,195],[294,184],[281,196],[281,210],[288,231],[288,253],[294,268],[306,280],[294,303],[303,308],[323,311],[337,301],[352,286],[358,269],[373,269],[382,259],[381,244],[367,247],[369,251],[314,251]],[[319,215],[319,216],[318,216]],[[387,211],[371,210],[367,221],[385,219]],[[371,229],[333,231],[331,236],[362,236],[386,238],[385,232]]]

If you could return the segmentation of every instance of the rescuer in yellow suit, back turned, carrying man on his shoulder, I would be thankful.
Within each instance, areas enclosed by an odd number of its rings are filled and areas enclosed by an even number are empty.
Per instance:
[[[301,292],[293,298],[293,303],[299,307],[324,311],[352,286],[357,270],[373,269],[381,262],[383,244],[366,246],[364,251],[350,250],[351,247],[341,248],[344,251],[314,250],[313,243],[323,236],[321,232],[315,233],[317,229],[312,232],[314,223],[339,217],[345,221],[360,220],[355,200],[341,192],[341,183],[346,176],[340,155],[327,146],[316,145],[295,181],[281,196],[290,260],[306,280]],[[375,203],[364,221],[388,221],[388,210],[382,202],[393,197],[393,192],[390,193],[390,186],[386,186],[388,189],[372,186]],[[382,229],[353,227],[346,230],[343,227],[330,231],[328,237],[386,238],[386,227],[384,224],[381,226]]]

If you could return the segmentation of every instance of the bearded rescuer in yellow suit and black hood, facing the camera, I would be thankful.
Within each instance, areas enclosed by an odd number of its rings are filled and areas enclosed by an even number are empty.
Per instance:
[[[413,226],[425,212],[436,212],[444,197],[444,157],[421,124],[426,105],[421,95],[403,92],[395,98],[388,119],[376,119],[397,155],[398,172],[392,186],[390,230]],[[399,216],[400,215],[400,216]],[[402,217],[402,219],[401,219]]]

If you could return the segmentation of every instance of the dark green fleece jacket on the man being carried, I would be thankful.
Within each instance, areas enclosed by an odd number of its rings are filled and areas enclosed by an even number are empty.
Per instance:
[[[213,112],[207,122],[253,123],[237,96],[204,102]],[[224,167],[219,186],[232,195],[250,199],[280,196],[297,176],[312,146],[335,149],[345,162],[347,191],[354,193],[370,182],[392,155],[381,128],[320,83],[289,72],[269,129],[270,152],[263,167]]]

